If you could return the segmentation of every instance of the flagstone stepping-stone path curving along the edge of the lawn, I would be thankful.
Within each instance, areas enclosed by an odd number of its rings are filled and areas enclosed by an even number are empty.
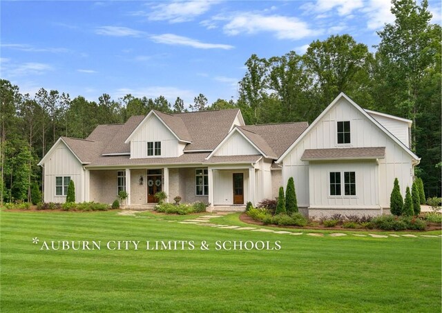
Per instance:
[[[122,212],[118,212],[118,215],[124,215],[124,216],[135,216],[137,218],[148,218],[148,219],[154,219],[155,221],[166,221],[165,219],[161,217],[153,217],[153,216],[137,216],[137,211],[131,211],[131,210],[124,210]],[[356,237],[369,237],[369,238],[418,238],[418,237],[425,237],[425,238],[441,238],[442,235],[427,235],[427,234],[344,234],[342,232],[331,232],[329,234],[325,234],[322,232],[299,232],[299,230],[294,230],[294,232],[290,232],[287,230],[271,230],[269,228],[260,228],[259,225],[256,225],[256,227],[253,226],[237,226],[237,225],[225,225],[225,224],[217,224],[215,223],[218,217],[222,217],[224,215],[231,214],[227,212],[218,212],[213,214],[206,214],[206,215],[200,215],[198,217],[192,217],[189,216],[189,219],[185,219],[183,221],[167,221],[168,223],[180,223],[180,224],[192,224],[192,225],[199,225],[199,226],[209,226],[213,228],[219,228],[224,230],[241,230],[241,231],[250,231],[250,232],[269,232],[273,234],[289,234],[293,236],[314,236],[314,237],[324,237],[324,236],[331,236],[331,237],[343,237],[343,236],[356,236]]]

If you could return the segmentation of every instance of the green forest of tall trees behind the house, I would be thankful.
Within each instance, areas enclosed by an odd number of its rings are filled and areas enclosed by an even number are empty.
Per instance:
[[[411,119],[412,150],[421,157],[416,176],[427,196],[441,196],[441,26],[423,0],[393,0],[395,21],[378,32],[381,42],[370,52],[348,34],[313,41],[303,55],[291,51],[269,59],[252,54],[239,81],[238,100],[194,103],[177,97],[148,99],[102,94],[88,101],[41,88],[21,94],[0,79],[0,201],[30,201],[41,190],[39,160],[60,136],[86,138],[99,124],[124,123],[150,110],[185,112],[240,108],[247,124],[314,121],[345,92],[369,110]],[[393,186],[393,182],[392,182]]]

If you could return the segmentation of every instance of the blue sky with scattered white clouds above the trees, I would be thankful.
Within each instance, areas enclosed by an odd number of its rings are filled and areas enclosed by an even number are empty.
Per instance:
[[[236,99],[251,54],[305,52],[311,41],[351,34],[378,43],[394,21],[387,0],[1,1],[2,79],[22,93],[39,88],[97,101],[131,93],[203,93]],[[441,1],[430,1],[441,23]]]

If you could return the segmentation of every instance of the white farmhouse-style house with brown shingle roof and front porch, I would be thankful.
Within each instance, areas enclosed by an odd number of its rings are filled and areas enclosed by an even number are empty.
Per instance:
[[[126,123],[98,125],[86,139],[61,137],[41,159],[44,201],[128,207],[205,201],[209,210],[243,209],[278,196],[294,177],[305,214],[381,214],[394,178],[404,192],[419,158],[409,148],[411,121],[363,110],[341,93],[308,125],[245,125],[240,110],[165,114],[152,110]]]

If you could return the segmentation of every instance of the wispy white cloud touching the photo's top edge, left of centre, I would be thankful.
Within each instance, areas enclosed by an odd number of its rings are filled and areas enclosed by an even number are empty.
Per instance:
[[[170,23],[181,23],[185,21],[192,21],[195,19],[195,17],[204,14],[215,3],[218,3],[218,1],[172,1],[151,6],[151,12],[136,12],[136,14],[144,14],[151,21],[169,21]]]

